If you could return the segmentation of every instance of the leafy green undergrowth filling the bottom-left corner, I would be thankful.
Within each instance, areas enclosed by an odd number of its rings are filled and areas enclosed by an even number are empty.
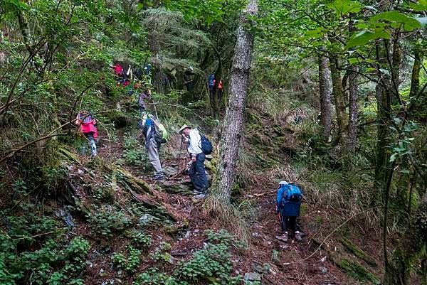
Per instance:
[[[0,284],[84,284],[90,243],[65,235],[56,220],[43,216],[6,216],[0,233]]]

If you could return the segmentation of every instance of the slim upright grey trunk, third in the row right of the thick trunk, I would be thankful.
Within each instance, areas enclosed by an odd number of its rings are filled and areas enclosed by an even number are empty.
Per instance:
[[[348,138],[347,138],[347,151],[349,154],[354,154],[356,152],[357,144],[357,102],[359,98],[357,88],[357,72],[359,68],[357,65],[350,65],[349,71],[349,129],[348,129]]]

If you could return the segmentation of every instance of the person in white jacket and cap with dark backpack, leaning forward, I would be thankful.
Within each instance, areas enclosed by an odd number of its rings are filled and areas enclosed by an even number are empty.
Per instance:
[[[206,151],[202,150],[202,138],[206,141],[206,137],[201,136],[197,129],[191,129],[186,124],[178,132],[189,140],[187,149],[191,158],[189,176],[194,186],[194,194],[196,194],[196,198],[205,198],[208,193],[208,178],[206,178],[204,166]],[[209,144],[211,143],[209,142]]]

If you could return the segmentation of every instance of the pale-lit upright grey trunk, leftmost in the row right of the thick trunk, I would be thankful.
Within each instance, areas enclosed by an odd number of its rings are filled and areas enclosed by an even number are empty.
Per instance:
[[[325,48],[322,48],[325,50]],[[322,124],[323,140],[331,141],[331,72],[329,60],[325,55],[319,55],[319,93],[320,93],[320,122]]]

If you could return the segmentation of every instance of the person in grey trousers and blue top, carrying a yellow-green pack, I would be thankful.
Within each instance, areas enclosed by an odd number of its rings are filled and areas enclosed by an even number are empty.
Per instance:
[[[155,134],[155,126],[154,121],[150,118],[145,120],[144,131],[145,133],[145,147],[147,148],[147,154],[149,162],[152,164],[154,168],[154,180],[163,180],[163,169],[162,164],[160,163],[159,158],[159,144],[154,139]]]

